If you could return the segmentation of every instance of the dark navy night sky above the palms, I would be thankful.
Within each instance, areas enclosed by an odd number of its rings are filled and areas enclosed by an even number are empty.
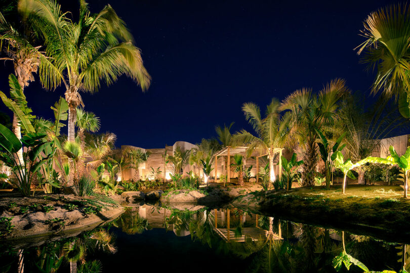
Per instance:
[[[62,1],[62,10],[75,16],[70,2]],[[123,76],[94,95],[83,93],[86,110],[101,118],[101,132],[117,135],[116,146],[162,148],[211,138],[215,125],[232,121],[234,131],[251,129],[244,102],[264,110],[273,97],[301,87],[318,91],[333,78],[370,94],[374,74],[353,49],[363,40],[363,19],[397,2],[90,0],[89,7],[97,12],[108,3],[132,31],[152,84],[142,93]],[[2,61],[6,94],[12,72],[12,63]],[[31,83],[25,94],[34,114],[51,119],[50,106],[64,91]]]

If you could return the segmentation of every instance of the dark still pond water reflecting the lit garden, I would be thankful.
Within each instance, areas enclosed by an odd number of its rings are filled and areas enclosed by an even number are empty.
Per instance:
[[[345,263],[349,272],[399,272],[410,254],[403,244],[236,208],[148,205],[75,237],[1,247],[1,272],[347,272]]]

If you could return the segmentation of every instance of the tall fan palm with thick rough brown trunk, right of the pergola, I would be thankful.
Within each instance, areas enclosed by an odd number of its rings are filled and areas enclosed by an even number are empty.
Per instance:
[[[304,148],[302,183],[314,185],[314,171],[317,163],[316,129],[324,131],[338,118],[342,98],[349,93],[343,79],[335,79],[313,94],[311,89],[302,88],[289,95],[279,107],[290,118],[290,143]],[[286,115],[285,114],[285,115]]]

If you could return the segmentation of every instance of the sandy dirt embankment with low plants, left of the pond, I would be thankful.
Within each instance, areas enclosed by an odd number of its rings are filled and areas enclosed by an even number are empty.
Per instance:
[[[38,195],[0,199],[0,239],[33,238],[92,229],[124,208],[106,196]]]

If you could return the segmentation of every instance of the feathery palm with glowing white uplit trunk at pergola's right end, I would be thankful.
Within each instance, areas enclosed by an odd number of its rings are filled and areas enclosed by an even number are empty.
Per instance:
[[[273,183],[275,180],[274,149],[284,145],[288,132],[288,120],[286,117],[281,118],[279,102],[276,99],[272,99],[267,106],[264,118],[261,117],[259,106],[254,103],[243,104],[242,111],[247,121],[253,126],[256,135],[242,129],[233,135],[233,143],[249,145],[247,156],[251,156],[254,151],[267,154],[269,158],[269,181]]]

